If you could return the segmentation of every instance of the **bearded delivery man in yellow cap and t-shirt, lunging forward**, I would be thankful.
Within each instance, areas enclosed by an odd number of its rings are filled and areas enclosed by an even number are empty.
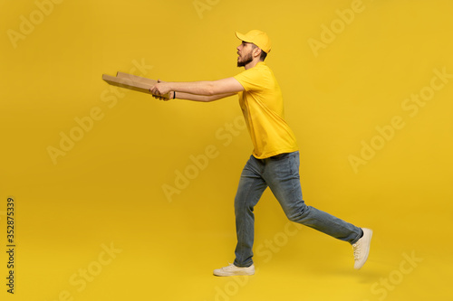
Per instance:
[[[246,71],[214,81],[159,82],[150,90],[156,98],[170,92],[172,98],[213,101],[238,94],[246,126],[254,145],[253,154],[241,174],[235,198],[236,259],[234,264],[214,270],[216,276],[253,275],[254,207],[270,187],[290,221],[320,230],[352,244],[354,268],[368,259],[372,231],[358,228],[304,203],[299,178],[299,152],[293,131],[284,121],[280,87],[265,64],[271,51],[266,33],[253,30],[236,33],[237,67]]]

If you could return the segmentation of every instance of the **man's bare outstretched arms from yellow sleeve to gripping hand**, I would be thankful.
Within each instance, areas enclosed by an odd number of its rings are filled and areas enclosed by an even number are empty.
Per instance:
[[[213,81],[158,82],[150,89],[154,95],[175,91],[178,99],[195,101],[223,99],[243,90],[244,87],[235,78]]]

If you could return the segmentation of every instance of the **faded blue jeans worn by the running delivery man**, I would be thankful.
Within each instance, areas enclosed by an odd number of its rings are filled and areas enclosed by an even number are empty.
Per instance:
[[[241,174],[235,198],[236,267],[244,268],[253,264],[254,207],[267,186],[290,221],[351,244],[360,239],[361,228],[305,204],[299,177],[298,151],[265,159],[256,159],[251,155]]]

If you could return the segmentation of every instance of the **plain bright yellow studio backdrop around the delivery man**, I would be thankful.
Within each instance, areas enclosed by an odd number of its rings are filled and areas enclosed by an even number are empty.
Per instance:
[[[339,21],[337,10],[354,5],[361,12]],[[453,299],[453,79],[415,116],[401,107],[434,70],[453,74],[452,2],[65,0],[47,10],[40,20],[34,1],[0,2],[2,299]],[[31,14],[33,31],[12,42],[8,33],[21,33]],[[313,52],[309,42],[323,42],[332,24],[340,26],[333,41]],[[360,271],[348,244],[295,230],[266,191],[255,209],[256,275],[213,277],[234,259],[233,200],[252,150],[237,99],[159,102],[114,94],[101,80],[116,71],[233,76],[241,71],[234,32],[255,28],[274,44],[266,62],[301,147],[305,202],[374,230]],[[93,108],[100,120],[54,164],[48,147],[60,148],[61,133],[77,131],[76,118]],[[405,126],[354,171],[350,156],[394,116]],[[190,156],[208,146],[216,155],[193,169]],[[187,168],[193,179],[166,196]],[[5,286],[8,196],[14,296]],[[117,253],[101,265],[111,245]],[[96,275],[82,288],[71,279],[83,269]]]

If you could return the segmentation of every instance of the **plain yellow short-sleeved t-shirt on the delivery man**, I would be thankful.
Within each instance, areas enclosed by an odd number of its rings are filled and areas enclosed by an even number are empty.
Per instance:
[[[248,132],[257,159],[298,150],[293,131],[284,121],[282,91],[264,61],[234,77],[244,87],[239,92]]]

